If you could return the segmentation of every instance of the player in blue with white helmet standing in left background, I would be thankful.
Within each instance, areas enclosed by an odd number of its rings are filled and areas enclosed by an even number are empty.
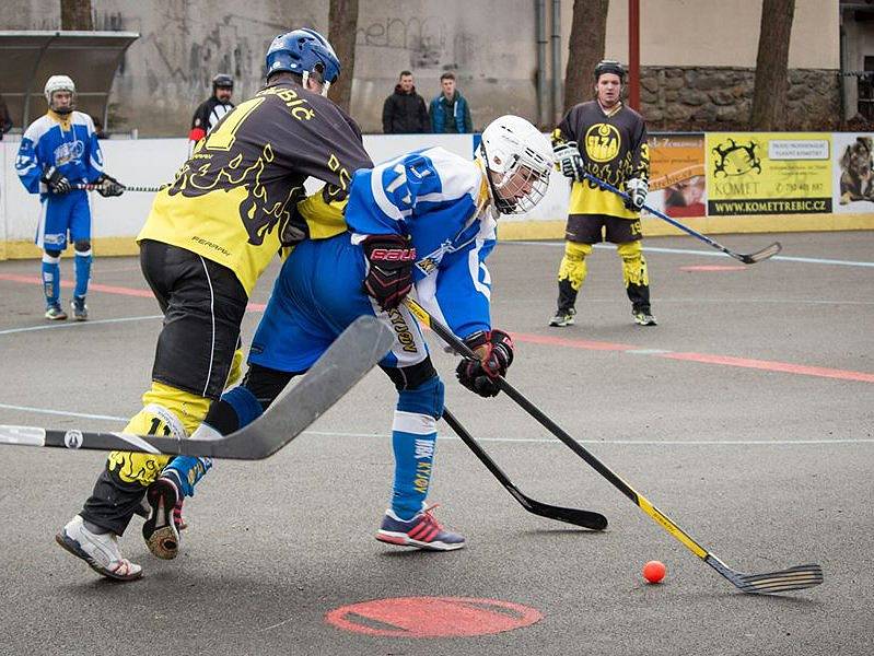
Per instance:
[[[45,94],[48,112],[24,132],[15,169],[27,191],[39,194],[35,242],[43,249],[46,318],[67,318],[60,304],[60,255],[67,249],[69,234],[75,250],[71,306],[73,318],[84,321],[92,259],[91,207],[88,192],[75,186],[96,184],[102,196],[120,196],[125,188],[103,172],[103,156],[91,117],[73,110],[73,81],[67,75],[53,75],[46,82]]]

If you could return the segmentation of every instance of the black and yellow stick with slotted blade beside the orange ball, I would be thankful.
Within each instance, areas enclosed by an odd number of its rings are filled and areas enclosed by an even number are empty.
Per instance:
[[[459,355],[468,359],[476,359],[476,354],[458,339],[446,326],[434,319],[428,311],[421,305],[416,303],[412,298],[405,300],[407,307],[416,315],[426,326],[431,328],[438,337],[452,347]],[[656,508],[650,501],[642,494],[634,491],[631,485],[625,482],[616,473],[613,472],[606,465],[592,455],[585,447],[578,443],[573,437],[566,433],[556,422],[549,419],[537,406],[526,399],[520,391],[517,391],[505,378],[499,377],[498,384],[501,389],[520,407],[536,419],[544,427],[546,427],[556,437],[561,440],[568,447],[571,448],[578,456],[591,465],[598,473],[606,478],[613,485],[618,489],[622,494],[628,496],[641,511],[652,517],[659,526],[664,528],[667,532],[674,536],[677,540],[683,542],[689,551],[695,553],[698,558],[704,561],[708,565],[713,567],[722,576],[727,578],[741,591],[750,594],[773,594],[785,593],[789,590],[801,590],[809,588],[823,583],[823,570],[819,565],[797,565],[789,570],[781,570],[779,572],[769,572],[767,574],[744,574],[732,570],[729,565],[723,563],[715,555],[710,553],[707,549],[696,542],[686,531],[679,526],[674,524],[667,515]]]

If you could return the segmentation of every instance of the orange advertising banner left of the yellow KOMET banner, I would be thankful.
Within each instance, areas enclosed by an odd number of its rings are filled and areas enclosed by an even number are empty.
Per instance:
[[[650,194],[646,204],[672,218],[703,216],[704,134],[650,134]]]

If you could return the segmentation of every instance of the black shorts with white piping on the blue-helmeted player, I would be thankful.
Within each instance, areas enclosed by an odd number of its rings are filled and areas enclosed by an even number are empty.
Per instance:
[[[140,242],[140,267],[164,313],[152,380],[218,399],[241,345],[246,290],[228,267],[152,239]]]

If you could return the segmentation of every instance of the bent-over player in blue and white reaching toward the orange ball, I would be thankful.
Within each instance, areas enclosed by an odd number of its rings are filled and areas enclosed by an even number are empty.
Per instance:
[[[477,353],[478,360],[459,363],[461,384],[496,396],[497,377],[513,362],[513,341],[491,325],[486,258],[498,216],[532,209],[551,167],[547,138],[528,121],[503,116],[482,132],[473,161],[429,148],[359,169],[346,209],[348,231],[295,247],[253,339],[243,384],[213,403],[191,438],[215,438],[254,421],[357,317],[380,317],[397,336],[380,366],[398,398],[394,490],[376,539],[435,551],[464,547],[464,537],[444,529],[426,504],[443,383],[403,300],[412,294]],[[202,473],[196,458],[173,460],[155,481],[164,504],[190,495]]]

